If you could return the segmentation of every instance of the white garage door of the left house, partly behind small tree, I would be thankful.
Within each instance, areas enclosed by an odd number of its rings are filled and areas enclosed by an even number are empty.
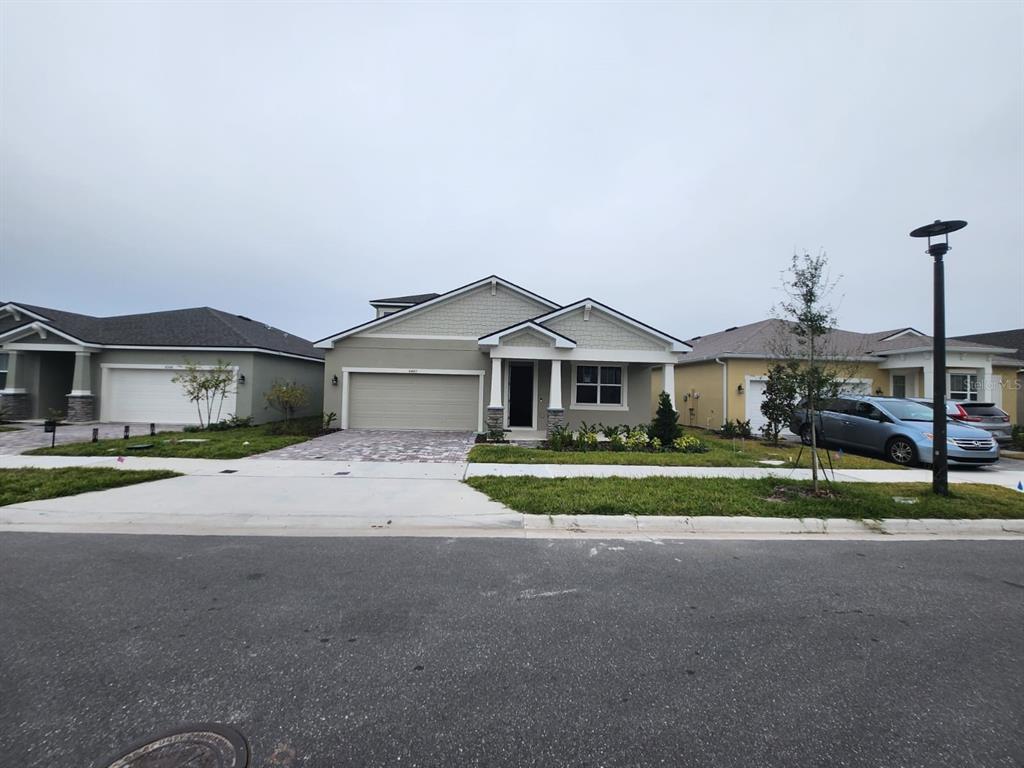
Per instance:
[[[179,371],[167,369],[103,369],[103,421],[151,422],[161,424],[199,424],[196,403],[171,379]],[[236,394],[224,397],[220,418],[236,413]],[[205,414],[204,414],[205,417]],[[217,419],[216,412],[213,414]]]

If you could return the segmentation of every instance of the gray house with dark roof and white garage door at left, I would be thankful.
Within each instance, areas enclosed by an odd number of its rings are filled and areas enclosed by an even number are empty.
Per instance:
[[[171,381],[186,361],[232,366],[221,417],[254,422],[275,381],[309,390],[319,413],[323,353],[298,336],[210,307],[93,317],[20,302],[0,304],[0,406],[8,419],[195,424],[196,403]]]

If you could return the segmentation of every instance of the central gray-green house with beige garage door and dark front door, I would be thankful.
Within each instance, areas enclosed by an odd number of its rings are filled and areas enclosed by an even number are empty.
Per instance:
[[[651,369],[672,382],[690,349],[594,299],[560,305],[496,275],[370,303],[375,319],[316,342],[324,411],[342,428],[528,439],[583,421],[639,424],[650,418]]]

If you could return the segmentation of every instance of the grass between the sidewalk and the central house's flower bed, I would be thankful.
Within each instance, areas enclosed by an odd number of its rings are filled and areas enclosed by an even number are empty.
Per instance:
[[[714,437],[706,432],[691,432],[711,449],[707,454],[680,454],[675,452],[663,454],[644,454],[633,452],[611,451],[547,451],[519,445],[502,443],[480,443],[469,452],[469,461],[481,464],[638,464],[655,467],[767,467],[759,464],[763,459],[781,461],[786,468],[796,467],[799,445],[785,443],[779,447],[764,445],[760,440],[727,440]],[[843,469],[900,469],[895,464],[854,456],[837,451],[828,452],[833,466]],[[824,466],[828,466],[825,452],[819,449],[819,456]],[[810,468],[810,450],[805,449],[800,457],[801,467]]]

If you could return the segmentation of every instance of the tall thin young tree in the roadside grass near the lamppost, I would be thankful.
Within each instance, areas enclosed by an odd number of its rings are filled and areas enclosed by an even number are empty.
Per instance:
[[[841,388],[841,377],[834,364],[846,355],[829,349],[836,313],[827,303],[838,281],[827,272],[828,259],[824,252],[817,256],[794,254],[790,269],[782,278],[786,299],[779,303],[778,313],[786,321],[786,367],[796,381],[796,394],[807,403],[811,425],[811,482],[818,493],[818,424],[820,401]],[[794,342],[790,344],[790,340]],[[849,350],[847,350],[848,352]]]

